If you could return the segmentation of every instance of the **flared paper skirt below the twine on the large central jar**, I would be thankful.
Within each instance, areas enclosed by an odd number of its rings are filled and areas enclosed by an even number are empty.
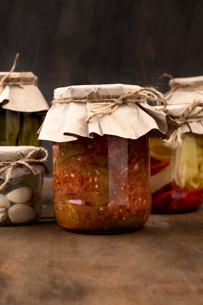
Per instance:
[[[77,111],[77,105],[74,105],[74,107],[69,107],[69,104],[52,105],[38,130],[38,139],[52,142],[69,142],[76,140],[78,135],[92,137],[93,133],[101,136],[103,134],[117,135],[130,139],[137,139],[146,133],[150,133],[151,137],[167,138],[180,127],[168,114],[147,104],[123,105],[124,108],[125,112],[126,108],[128,110],[127,114],[123,115],[121,128],[117,117],[118,110],[112,114],[95,116],[85,125],[85,119],[88,115],[87,106],[84,109],[83,105],[83,111],[80,116],[80,109]],[[119,107],[119,114],[121,110],[122,107]],[[133,117],[134,114],[137,114],[138,120]],[[141,118],[145,120],[143,126]],[[78,127],[79,122],[83,122],[83,124]],[[118,123],[116,129],[112,128],[111,122]],[[130,131],[129,122],[131,122]]]

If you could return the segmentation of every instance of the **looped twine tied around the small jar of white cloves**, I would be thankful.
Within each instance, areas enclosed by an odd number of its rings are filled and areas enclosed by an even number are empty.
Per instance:
[[[38,153],[45,153],[45,156],[36,159],[34,156]],[[9,182],[11,172],[18,167],[27,167],[31,172],[36,174],[36,171],[32,167],[32,164],[40,164],[45,162],[48,158],[48,151],[43,147],[38,147],[34,151],[30,152],[27,156],[16,160],[16,161],[0,161],[0,174],[5,173],[5,178],[3,182],[0,183],[0,191],[2,191]]]

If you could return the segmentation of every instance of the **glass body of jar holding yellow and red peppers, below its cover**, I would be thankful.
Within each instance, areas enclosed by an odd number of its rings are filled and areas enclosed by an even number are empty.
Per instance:
[[[182,145],[150,144],[152,213],[185,213],[203,203],[203,135],[182,133]]]

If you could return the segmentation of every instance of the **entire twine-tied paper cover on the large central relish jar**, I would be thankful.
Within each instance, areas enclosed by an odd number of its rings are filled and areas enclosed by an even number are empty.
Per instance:
[[[57,88],[39,139],[54,142],[110,134],[137,139],[167,137],[179,127],[163,111],[148,104],[164,97],[157,90],[126,84],[78,85]],[[60,119],[59,119],[60,118]]]

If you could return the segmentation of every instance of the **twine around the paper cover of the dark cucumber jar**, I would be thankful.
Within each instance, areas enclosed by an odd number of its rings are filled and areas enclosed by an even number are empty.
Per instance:
[[[23,76],[31,76],[33,73],[32,72],[19,72],[17,75],[12,75],[14,72],[16,65],[17,65],[17,59],[19,57],[19,53],[17,53],[16,58],[14,60],[13,67],[11,70],[8,72],[8,74],[4,75],[0,79],[0,94],[3,91],[4,86],[9,85],[9,86],[20,86],[20,85],[36,85],[37,80],[33,81],[22,81],[20,80],[21,77]]]

